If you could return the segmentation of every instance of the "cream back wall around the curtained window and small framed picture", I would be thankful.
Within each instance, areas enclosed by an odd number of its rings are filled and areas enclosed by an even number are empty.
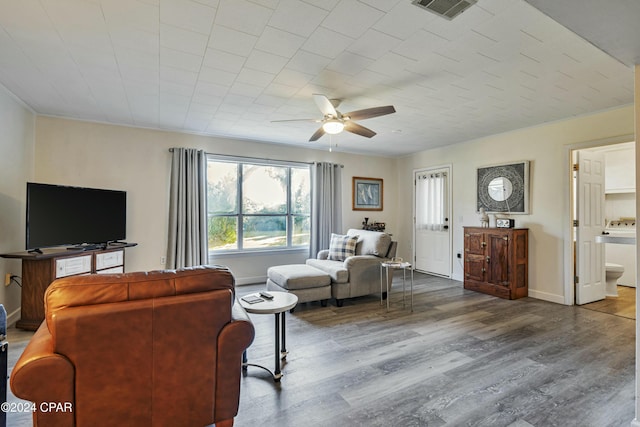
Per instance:
[[[364,142],[366,143],[366,142]],[[318,146],[316,144],[316,146]],[[397,228],[395,161],[312,150],[281,144],[264,144],[225,138],[179,134],[123,126],[88,123],[51,117],[36,120],[35,181],[126,190],[128,195],[126,270],[163,268],[166,255],[170,147],[201,148],[209,153],[240,155],[300,162],[327,161],[343,164],[343,226],[360,228],[363,217]],[[326,147],[326,146],[325,146]],[[384,211],[351,210],[353,176],[384,180]],[[239,284],[265,280],[271,265],[304,262],[307,253],[261,254],[252,257],[220,257]]]

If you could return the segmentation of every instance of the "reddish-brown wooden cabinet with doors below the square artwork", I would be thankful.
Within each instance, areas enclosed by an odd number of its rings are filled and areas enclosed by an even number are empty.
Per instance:
[[[464,287],[500,298],[528,295],[529,230],[464,227]]]

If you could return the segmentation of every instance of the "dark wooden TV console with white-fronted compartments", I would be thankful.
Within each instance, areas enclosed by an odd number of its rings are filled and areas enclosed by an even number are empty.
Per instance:
[[[3,258],[22,260],[22,302],[16,327],[35,331],[44,320],[44,292],[55,279],[81,274],[124,273],[124,250],[136,243],[104,249],[42,249],[42,253],[14,252]]]

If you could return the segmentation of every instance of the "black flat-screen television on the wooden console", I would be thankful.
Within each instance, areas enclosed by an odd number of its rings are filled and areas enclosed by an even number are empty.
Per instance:
[[[27,183],[26,249],[124,240],[125,191]]]

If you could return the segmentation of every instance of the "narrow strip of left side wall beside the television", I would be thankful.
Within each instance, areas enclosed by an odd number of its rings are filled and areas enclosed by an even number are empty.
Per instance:
[[[33,175],[35,115],[0,88],[0,253],[25,248],[26,182]],[[20,318],[20,287],[4,287],[7,273],[22,275],[19,260],[0,258],[0,303],[8,323]]]

